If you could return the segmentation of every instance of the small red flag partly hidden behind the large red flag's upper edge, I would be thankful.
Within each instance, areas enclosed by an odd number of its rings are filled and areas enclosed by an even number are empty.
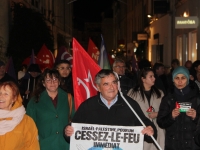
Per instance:
[[[88,44],[88,54],[92,57],[92,59],[98,63],[98,59],[99,59],[99,49],[96,47],[96,45],[94,44],[94,42],[89,39],[89,44]]]

